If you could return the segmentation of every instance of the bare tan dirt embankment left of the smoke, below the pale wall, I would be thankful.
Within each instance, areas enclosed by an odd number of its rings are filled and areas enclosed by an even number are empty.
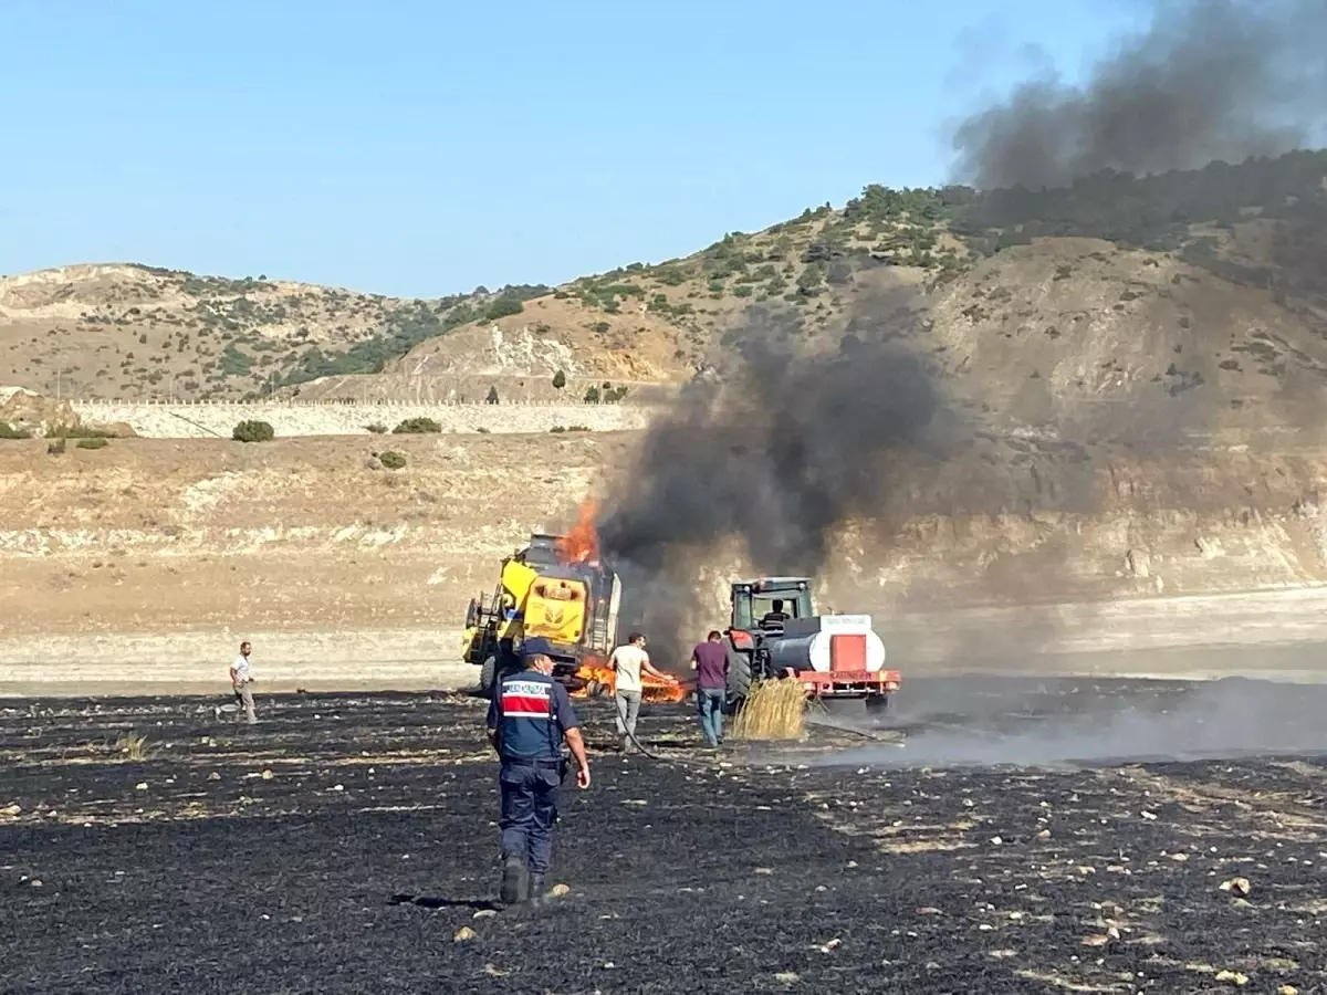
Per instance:
[[[9,635],[437,624],[559,524],[617,435],[0,450]],[[405,455],[384,470],[373,452]]]

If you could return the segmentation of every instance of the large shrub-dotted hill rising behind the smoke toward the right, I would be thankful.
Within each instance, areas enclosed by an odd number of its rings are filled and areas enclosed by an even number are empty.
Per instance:
[[[751,334],[837,348],[904,287],[929,312],[933,337],[918,346],[1016,418],[1204,385],[1253,414],[1270,394],[1319,386],[1327,369],[1324,184],[1327,153],[1103,172],[1038,192],[871,186],[840,210],[565,284],[519,314],[430,338],[378,375],[299,390],[475,395],[503,382],[552,397],[559,370],[577,395],[600,379],[675,385],[731,361]],[[752,324],[754,304],[783,317]]]

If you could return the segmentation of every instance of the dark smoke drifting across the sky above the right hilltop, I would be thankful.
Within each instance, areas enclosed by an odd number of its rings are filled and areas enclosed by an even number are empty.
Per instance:
[[[1032,80],[965,121],[957,178],[1035,190],[1239,162],[1308,143],[1324,113],[1322,0],[1160,0],[1084,85]]]

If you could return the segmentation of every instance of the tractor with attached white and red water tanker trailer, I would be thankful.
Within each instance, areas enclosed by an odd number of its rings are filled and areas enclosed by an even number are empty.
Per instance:
[[[762,577],[731,585],[729,706],[742,707],[759,681],[796,679],[824,700],[884,707],[900,685],[871,616],[817,616],[809,577]]]

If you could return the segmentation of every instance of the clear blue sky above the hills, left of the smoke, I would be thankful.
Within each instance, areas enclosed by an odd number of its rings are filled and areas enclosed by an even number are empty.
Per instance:
[[[3,0],[0,273],[438,296],[693,252],[864,184],[1139,7]]]

